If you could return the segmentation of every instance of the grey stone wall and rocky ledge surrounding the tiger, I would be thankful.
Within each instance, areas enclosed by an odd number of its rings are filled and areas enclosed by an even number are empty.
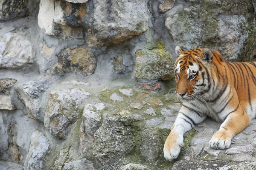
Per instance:
[[[163,144],[181,107],[175,46],[250,61],[254,0],[0,0],[0,169],[255,169],[256,122],[228,150],[220,125]],[[221,160],[221,161],[216,161]],[[233,163],[234,162],[234,163]]]

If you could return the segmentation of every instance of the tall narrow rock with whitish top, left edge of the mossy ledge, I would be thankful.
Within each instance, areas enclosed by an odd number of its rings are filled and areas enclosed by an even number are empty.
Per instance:
[[[83,121],[80,125],[79,137],[82,152],[92,148],[94,133],[102,125],[101,111],[105,108],[103,103],[87,104],[83,111]]]

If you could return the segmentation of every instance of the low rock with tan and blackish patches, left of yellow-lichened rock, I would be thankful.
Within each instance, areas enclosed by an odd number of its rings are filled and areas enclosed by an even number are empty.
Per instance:
[[[58,62],[49,68],[47,73],[81,73],[88,76],[93,74],[96,64],[96,57],[90,52],[90,48],[65,48],[58,54]]]

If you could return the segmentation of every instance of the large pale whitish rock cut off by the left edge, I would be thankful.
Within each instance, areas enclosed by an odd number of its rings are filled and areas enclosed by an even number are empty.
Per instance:
[[[0,68],[17,69],[32,64],[32,45],[23,33],[0,37]]]

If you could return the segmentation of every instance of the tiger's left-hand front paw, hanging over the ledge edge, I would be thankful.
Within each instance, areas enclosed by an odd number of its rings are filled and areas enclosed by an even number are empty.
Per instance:
[[[180,148],[183,147],[183,136],[168,136],[163,147],[164,157],[168,161],[176,159],[180,154]]]

